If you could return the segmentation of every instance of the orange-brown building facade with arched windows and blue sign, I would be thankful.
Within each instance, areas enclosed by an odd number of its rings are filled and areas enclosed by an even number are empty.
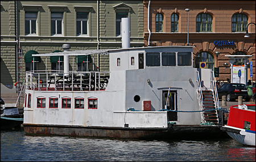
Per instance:
[[[222,81],[232,80],[232,68],[244,66],[245,59],[235,59],[231,65],[227,55],[252,55],[247,61],[253,62],[255,82],[255,1],[143,1],[143,4],[144,45],[193,45],[194,66],[200,68],[204,63],[204,68],[218,67],[216,80]],[[244,38],[249,23],[250,38]],[[216,56],[216,52],[220,55]],[[245,68],[245,73],[247,80],[251,80],[249,68]]]

